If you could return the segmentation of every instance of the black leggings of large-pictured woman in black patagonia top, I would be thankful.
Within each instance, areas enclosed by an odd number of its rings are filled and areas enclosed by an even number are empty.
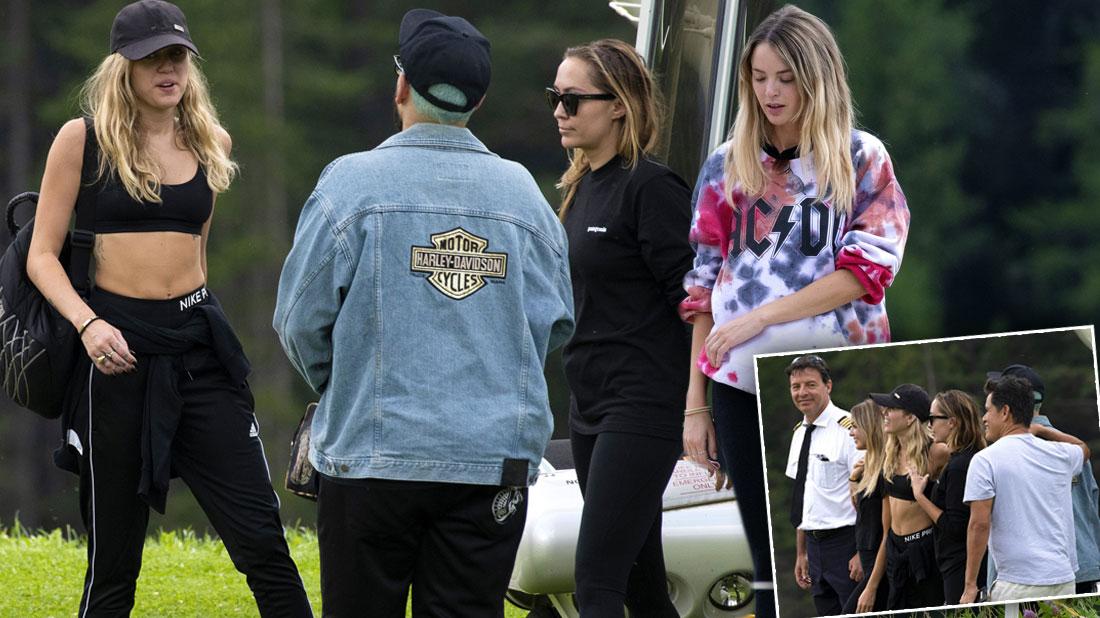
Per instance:
[[[585,618],[678,618],[661,545],[662,495],[683,451],[676,440],[572,431],[584,496],[576,539],[576,604]]]

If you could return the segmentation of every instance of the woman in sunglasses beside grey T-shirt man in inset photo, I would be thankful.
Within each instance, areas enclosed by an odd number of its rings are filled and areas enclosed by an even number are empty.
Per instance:
[[[910,472],[916,504],[932,519],[936,544],[936,563],[944,577],[944,600],[957,604],[963,596],[966,575],[966,534],[970,522],[970,505],[963,501],[966,473],[975,453],[986,448],[981,424],[981,408],[961,390],[945,390],[932,400],[932,438],[950,451],[947,465],[939,473],[932,490],[925,495],[928,475]],[[982,560],[978,582],[986,581],[986,561]]]

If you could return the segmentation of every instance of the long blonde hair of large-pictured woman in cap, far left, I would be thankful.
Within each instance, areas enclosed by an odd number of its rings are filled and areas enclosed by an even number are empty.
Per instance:
[[[206,77],[194,56],[190,53],[188,56],[187,87],[176,107],[179,137],[205,169],[210,190],[220,194],[229,189],[237,164],[218,141],[221,125],[210,102]],[[132,64],[120,54],[107,56],[85,81],[80,107],[96,125],[100,152],[97,177],[117,175],[130,197],[160,203],[163,170],[142,144],[136,96],[130,81]]]

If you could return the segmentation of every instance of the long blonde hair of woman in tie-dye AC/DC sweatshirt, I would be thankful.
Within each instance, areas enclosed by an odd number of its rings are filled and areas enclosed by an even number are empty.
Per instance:
[[[725,198],[734,203],[734,185],[747,195],[760,195],[768,172],[760,161],[760,146],[773,137],[771,123],[760,110],[752,90],[752,53],[768,43],[794,73],[800,107],[799,152],[813,156],[818,197],[850,212],[856,194],[851,164],[851,128],[855,124],[848,71],[828,25],[788,4],[768,15],[752,32],[741,52],[737,78],[737,118],[726,151]]]

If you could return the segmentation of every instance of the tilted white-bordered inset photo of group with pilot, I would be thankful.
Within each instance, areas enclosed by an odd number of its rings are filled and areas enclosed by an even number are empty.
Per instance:
[[[1093,327],[756,372],[781,618],[1097,593]]]

